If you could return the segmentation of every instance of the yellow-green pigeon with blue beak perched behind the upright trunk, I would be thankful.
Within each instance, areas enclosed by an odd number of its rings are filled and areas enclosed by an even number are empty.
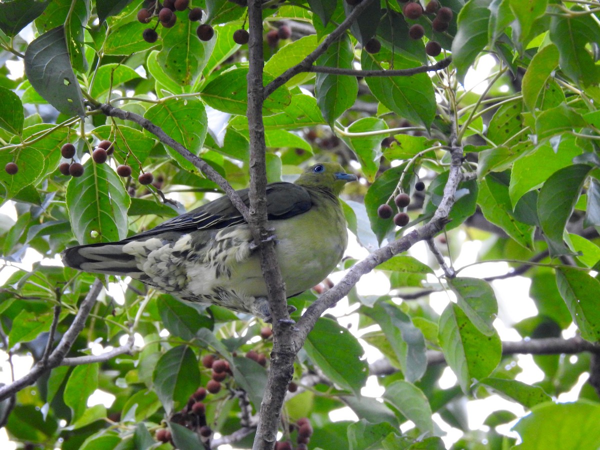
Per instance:
[[[286,298],[319,284],[342,259],[348,236],[339,195],[356,179],[338,163],[317,163],[293,183],[267,185],[268,228]],[[248,191],[237,191],[247,206]],[[185,301],[271,319],[257,245],[226,196],[122,241],[67,248],[62,261],[84,272],[131,277]]]

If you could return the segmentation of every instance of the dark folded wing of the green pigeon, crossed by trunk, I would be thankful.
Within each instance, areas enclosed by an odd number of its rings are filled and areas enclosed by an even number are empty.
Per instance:
[[[240,199],[246,206],[250,206],[248,193],[248,189],[238,191]],[[266,200],[269,220],[287,219],[307,212],[312,206],[310,194],[304,187],[286,182],[267,185]],[[233,206],[229,197],[223,196],[190,212],[173,217],[151,230],[131,236],[125,241],[134,241],[164,232],[189,233],[194,230],[218,230],[242,223],[245,223],[242,215]]]

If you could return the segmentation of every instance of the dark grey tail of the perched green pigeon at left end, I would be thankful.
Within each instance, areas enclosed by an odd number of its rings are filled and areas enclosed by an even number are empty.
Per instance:
[[[124,253],[127,242],[78,245],[62,252],[64,265],[84,272],[140,278],[143,272],[133,255]]]

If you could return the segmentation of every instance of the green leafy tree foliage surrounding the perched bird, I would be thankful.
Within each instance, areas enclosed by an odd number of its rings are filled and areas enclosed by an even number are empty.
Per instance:
[[[262,106],[266,179],[340,161],[361,178],[344,197],[359,245],[371,257],[388,244],[396,249],[375,269],[389,280],[386,295],[374,295],[375,286],[370,295],[332,289],[341,295],[330,304],[348,293],[348,309],[321,317],[298,352],[282,416],[295,425],[281,440],[296,442],[310,430],[310,448],[437,449],[445,445],[445,424],[463,433],[454,448],[508,448],[515,433],[520,449],[539,448],[540,439],[544,448],[598,448],[600,9],[587,1],[440,0],[452,11],[440,31],[432,28],[435,13],[405,19],[400,1],[354,3],[263,5],[264,85],[271,92]],[[267,360],[277,339],[266,324],[136,281],[102,278],[103,290],[94,276],[50,262],[77,242],[122,239],[214,198],[223,188],[218,175],[233,188],[250,183],[257,147],[247,77],[254,56],[232,38],[247,28],[248,8],[240,4],[192,0],[214,37],[199,40],[199,22],[177,11],[175,24],[158,25],[158,40],[148,42],[142,33],[158,19],[140,23],[140,8],[152,7],[139,0],[0,3],[2,59],[25,67],[18,79],[8,70],[14,66],[0,69],[0,167],[18,167],[0,172],[2,198],[16,208],[14,217],[0,216],[1,337],[10,364],[25,355],[36,364],[34,385],[0,388],[11,440],[63,449],[171,448],[169,440],[182,449],[251,447],[275,364]],[[323,45],[355,8],[358,19]],[[415,24],[424,38],[409,38]],[[250,45],[262,40],[248,28]],[[23,39],[27,33],[32,40]],[[373,49],[373,39],[381,48],[370,53],[364,47]],[[439,42],[442,54],[428,56],[428,41]],[[313,62],[323,70],[308,70]],[[485,64],[484,89],[475,91],[470,70]],[[288,69],[293,73],[277,84]],[[383,70],[395,72],[381,76]],[[100,107],[108,102],[123,114]],[[91,158],[102,140],[114,143],[109,163]],[[61,156],[65,143],[76,146],[73,161],[83,164],[83,176],[59,170],[70,162]],[[200,173],[202,164],[215,175]],[[131,176],[117,175],[119,165],[130,166]],[[145,172],[152,184],[136,182]],[[412,200],[398,209],[401,192]],[[385,203],[394,214],[407,212],[410,223],[381,218]],[[427,256],[394,256],[418,240],[428,242]],[[452,261],[470,241],[481,250],[467,272]],[[358,253],[351,248],[332,278],[352,266],[358,272]],[[43,262],[28,266],[31,254]],[[505,273],[486,278],[477,270],[497,260]],[[519,308],[513,298],[527,293],[497,299],[493,281],[517,276],[529,280],[538,314],[511,323],[503,311]],[[315,292],[290,299],[298,308],[293,319],[321,301]],[[93,306],[85,322],[86,301]],[[73,328],[78,311],[80,329]],[[502,342],[507,328],[511,340],[521,337],[518,346]],[[574,330],[577,337],[563,338]],[[68,354],[45,371],[55,361],[50,350],[67,337]],[[379,350],[380,361],[367,364],[364,343]],[[109,353],[98,356],[102,351]],[[515,353],[535,354],[543,379],[517,380],[523,369]],[[214,370],[208,355],[226,362],[223,370]],[[440,387],[440,364],[455,374],[454,386]],[[578,400],[559,403],[587,373],[592,384]],[[361,395],[370,376],[382,401]],[[219,378],[220,390],[215,383],[209,389],[218,392],[197,390]],[[88,406],[97,389],[114,396],[110,406]],[[485,419],[487,431],[470,430],[465,398],[492,394],[528,415],[497,410]],[[358,421],[332,422],[329,413],[344,406]],[[407,421],[415,426],[402,433]],[[514,431],[502,427],[508,423]],[[586,431],[574,433],[581,427]]]

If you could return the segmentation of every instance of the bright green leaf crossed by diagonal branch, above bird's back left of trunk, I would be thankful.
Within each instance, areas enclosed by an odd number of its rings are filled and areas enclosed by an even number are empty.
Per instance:
[[[208,129],[208,118],[202,101],[196,98],[169,98],[155,104],[146,111],[144,117],[160,127],[170,137],[197,155],[202,148]],[[167,154],[183,169],[198,172],[196,166],[170,147]]]

